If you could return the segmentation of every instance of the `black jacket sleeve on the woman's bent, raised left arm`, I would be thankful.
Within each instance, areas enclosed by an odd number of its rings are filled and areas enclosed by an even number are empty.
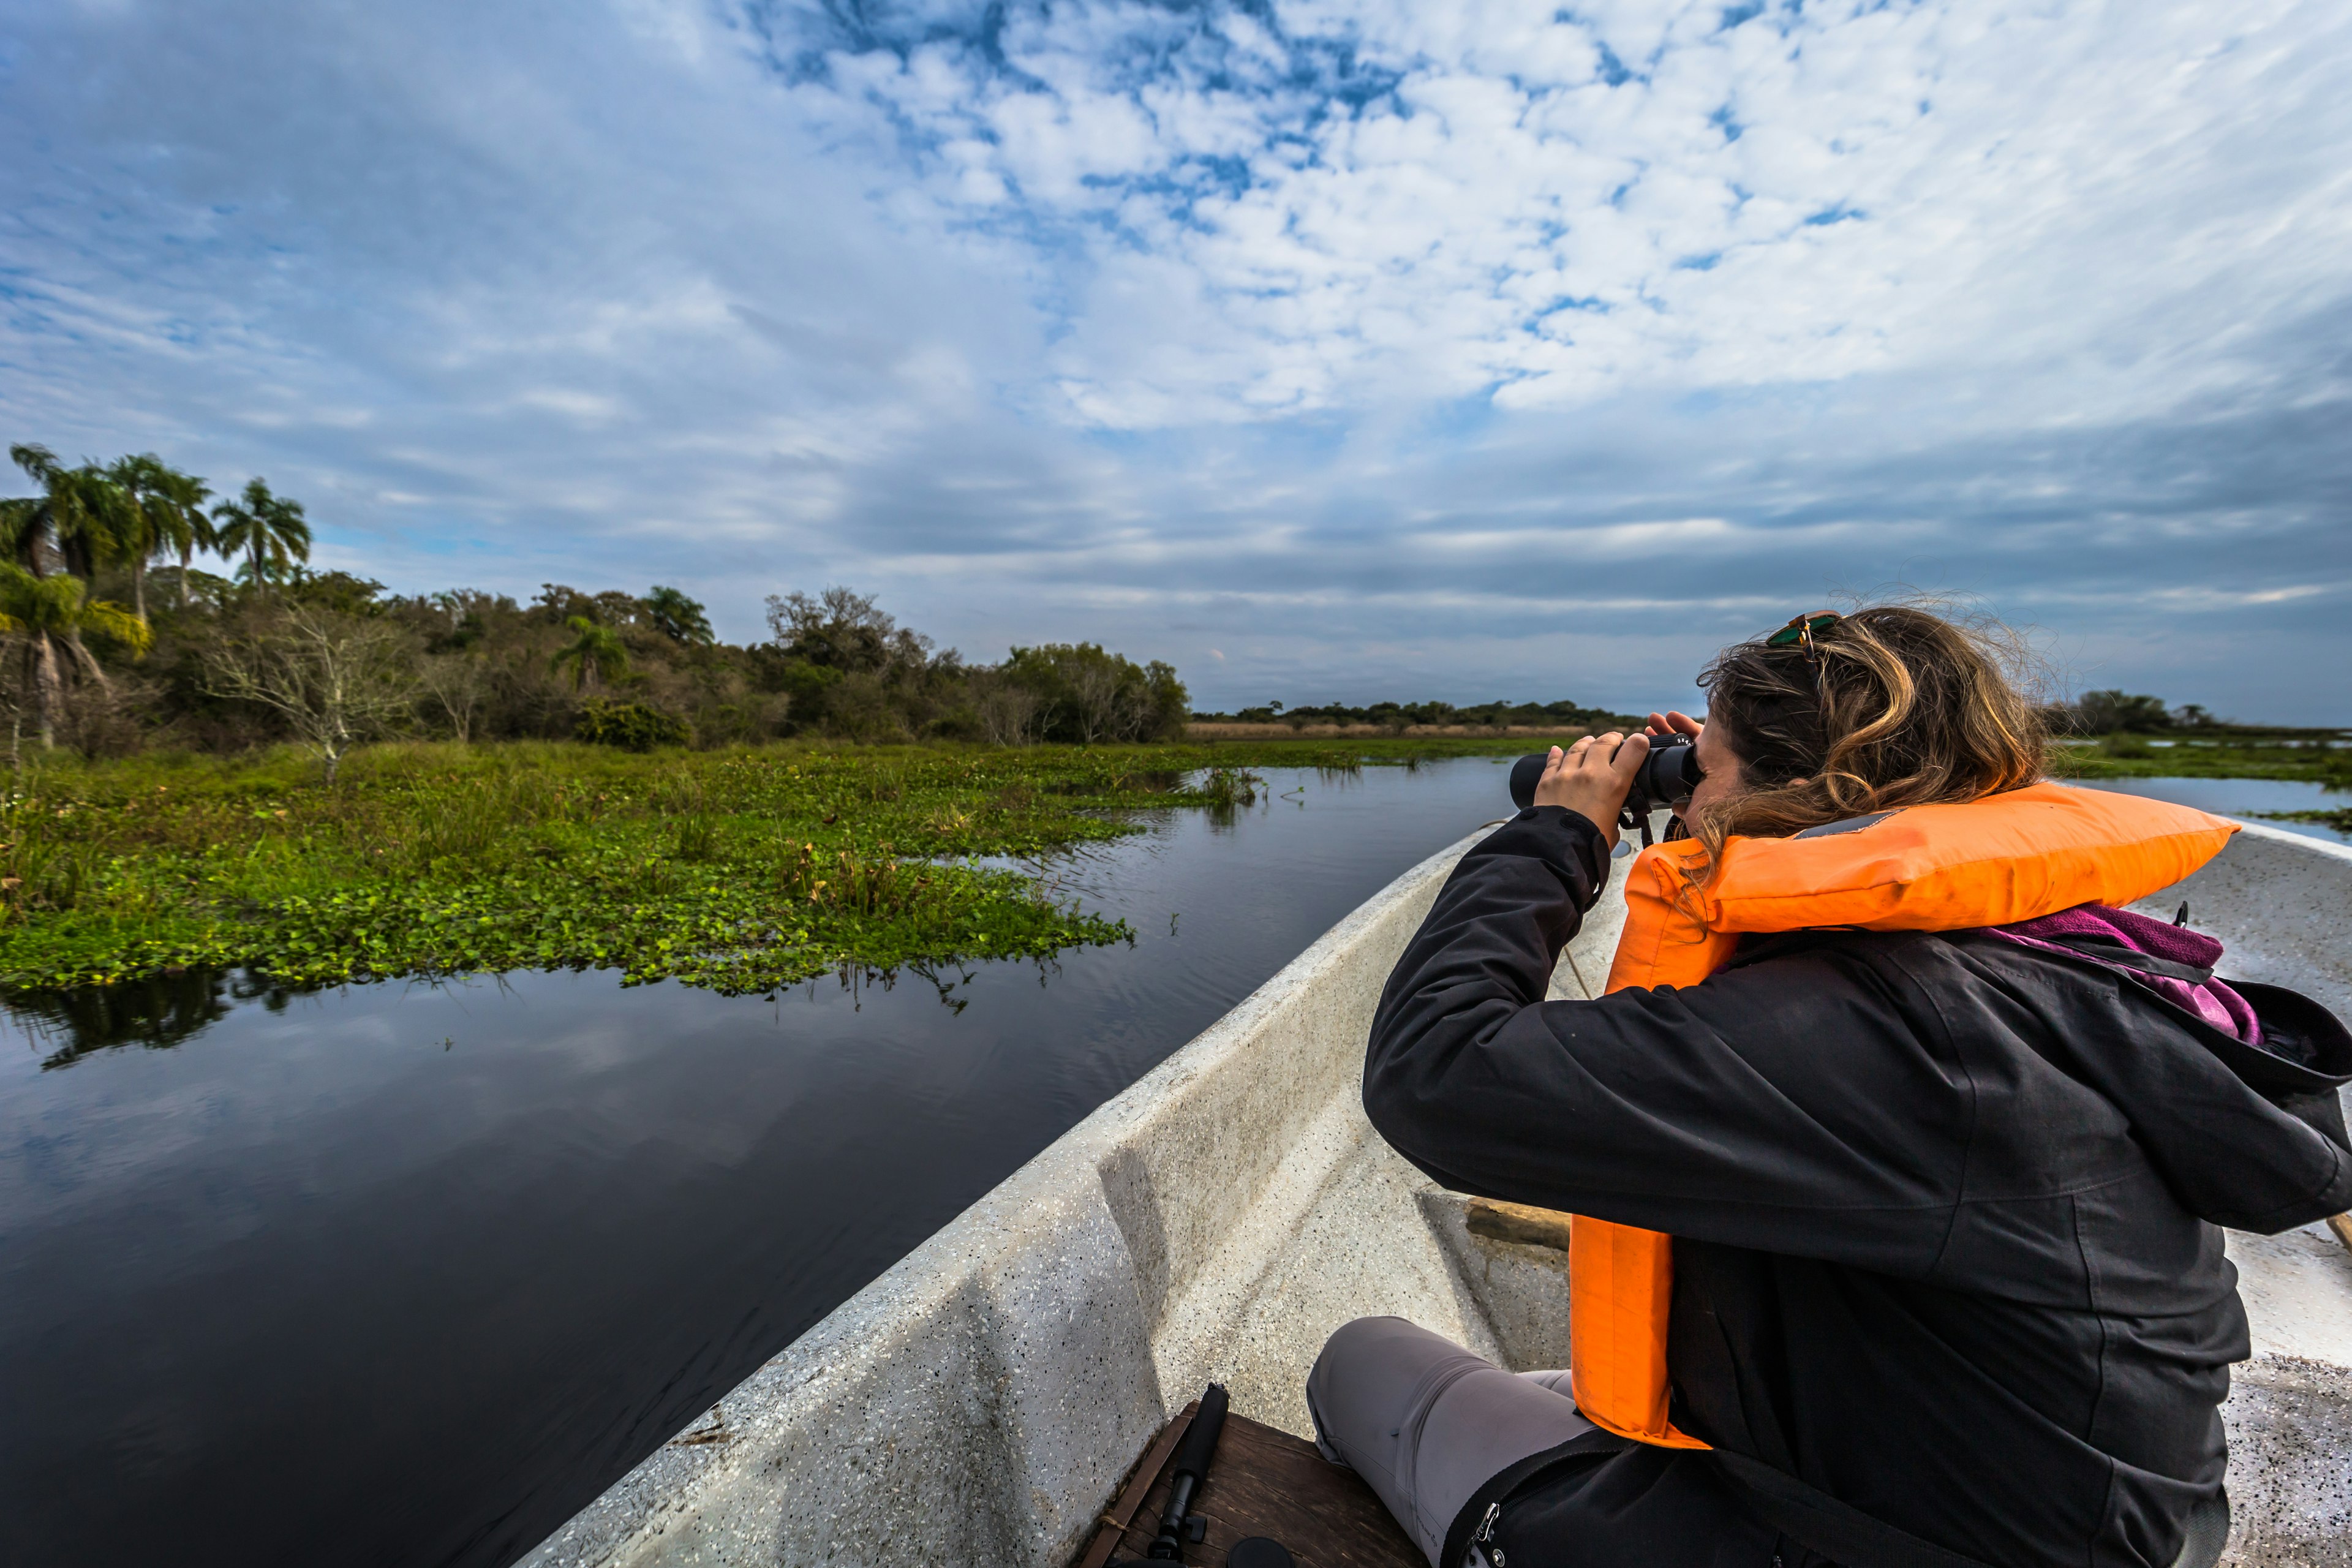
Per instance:
[[[1381,994],[1381,1135],[1456,1192],[1931,1269],[1973,1112],[1933,1004],[1837,947],[1543,1001],[1606,867],[1592,823],[1557,806],[1463,856]]]

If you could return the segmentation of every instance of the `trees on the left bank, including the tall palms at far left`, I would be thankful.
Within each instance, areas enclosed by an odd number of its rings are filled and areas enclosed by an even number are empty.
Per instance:
[[[964,661],[849,588],[767,599],[767,639],[724,644],[677,588],[543,583],[395,595],[313,571],[301,503],[252,480],[214,501],[153,454],[64,465],[0,501],[0,722],[12,757],[296,741],[332,778],[379,736],[731,745],[781,736],[995,745],[1169,741],[1188,693],[1101,644]],[[221,576],[198,555],[230,564]]]

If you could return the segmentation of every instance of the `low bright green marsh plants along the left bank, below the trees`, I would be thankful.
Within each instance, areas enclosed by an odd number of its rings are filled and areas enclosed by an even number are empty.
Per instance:
[[[1120,837],[1138,809],[1230,809],[1249,766],[1496,745],[419,743],[355,755],[334,788],[294,752],[47,762],[0,804],[0,985],[593,966],[760,992],[844,964],[1047,957],[1129,933],[1040,867],[974,858]]]

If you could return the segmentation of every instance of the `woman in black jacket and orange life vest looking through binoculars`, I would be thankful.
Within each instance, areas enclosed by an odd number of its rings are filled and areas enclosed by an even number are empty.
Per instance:
[[[1364,1063],[1428,1175],[1576,1215],[1573,1368],[1362,1319],[1308,1382],[1324,1453],[1437,1568],[2211,1563],[2249,1354],[2218,1227],[2352,1206],[2352,1037],[2112,907],[2230,827],[2039,783],[1980,635],[1799,616],[1700,686],[1708,724],[1651,717],[1703,780],[1630,867],[1611,994],[1543,1001],[1644,736],[1552,752]]]

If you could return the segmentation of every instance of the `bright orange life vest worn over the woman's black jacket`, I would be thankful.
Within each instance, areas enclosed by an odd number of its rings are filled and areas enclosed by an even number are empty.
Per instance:
[[[2131,903],[2194,872],[2232,832],[2187,806],[2037,783],[1964,806],[1912,806],[1853,832],[1731,839],[1722,870],[1696,891],[1682,872],[1705,851],[1693,839],[1656,844],[1625,877],[1609,990],[1698,985],[1743,931],[1964,931]],[[1618,1436],[1705,1448],[1665,1413],[1672,1293],[1672,1237],[1573,1215],[1576,1408]]]

